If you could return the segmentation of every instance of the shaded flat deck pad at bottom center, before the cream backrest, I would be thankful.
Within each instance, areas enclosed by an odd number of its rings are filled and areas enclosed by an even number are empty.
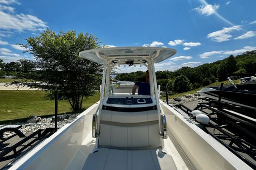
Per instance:
[[[160,148],[121,150],[100,147],[89,154],[83,170],[163,170],[177,169],[173,157]]]

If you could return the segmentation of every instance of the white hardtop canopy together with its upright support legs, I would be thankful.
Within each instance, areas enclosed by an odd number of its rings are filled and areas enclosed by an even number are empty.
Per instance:
[[[109,96],[110,70],[116,65],[144,65],[149,71],[150,95],[155,97],[157,109],[160,113],[159,96],[157,95],[157,84],[155,76],[155,63],[160,63],[170,56],[176,54],[172,48],[161,47],[112,47],[97,48],[79,52],[82,58],[103,64],[101,97],[99,106],[99,116],[103,106],[104,94]],[[132,89],[131,89],[132,90]],[[111,94],[110,94],[111,95]],[[127,97],[127,96],[126,96]]]

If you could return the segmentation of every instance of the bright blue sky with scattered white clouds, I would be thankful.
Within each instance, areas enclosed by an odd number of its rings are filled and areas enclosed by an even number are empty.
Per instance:
[[[255,9],[255,0],[0,0],[0,59],[33,59],[16,44],[25,44],[26,38],[49,28],[88,32],[101,45],[177,49],[156,70],[196,67],[255,50]],[[131,69],[120,68],[122,72]],[[136,70],[141,68],[133,68]]]

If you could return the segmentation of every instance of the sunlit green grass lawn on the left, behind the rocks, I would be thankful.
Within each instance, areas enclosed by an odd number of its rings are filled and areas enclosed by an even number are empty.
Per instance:
[[[34,90],[0,90],[0,121],[27,118],[30,115],[53,115],[55,101],[46,100],[45,91]],[[83,100],[82,107],[87,109],[100,99],[100,94]],[[71,112],[68,101],[58,101],[58,114]]]

